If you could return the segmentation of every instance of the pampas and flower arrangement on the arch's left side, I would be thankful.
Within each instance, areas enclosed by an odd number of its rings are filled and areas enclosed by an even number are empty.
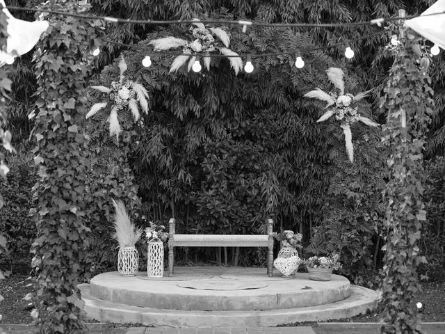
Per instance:
[[[119,81],[111,81],[111,87],[92,86],[91,88],[99,90],[102,93],[108,94],[108,102],[99,102],[93,104],[90,111],[86,114],[86,118],[95,115],[99,110],[111,105],[111,113],[107,122],[110,123],[110,136],[116,136],[119,140],[119,134],[122,129],[119,125],[118,111],[122,109],[129,109],[133,115],[133,119],[137,122],[140,118],[138,104],[144,113],[148,112],[148,93],[141,84],[124,77],[124,72],[127,70],[127,63],[124,57],[119,62],[120,79]]]

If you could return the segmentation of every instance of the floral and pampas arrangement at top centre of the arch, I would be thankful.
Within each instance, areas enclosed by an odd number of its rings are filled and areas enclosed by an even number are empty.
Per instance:
[[[199,21],[198,19],[194,19]],[[149,44],[153,45],[156,51],[163,51],[177,47],[182,48],[182,53],[177,56],[170,66],[170,73],[179,70],[179,67],[185,65],[188,61],[187,70],[190,72],[193,63],[196,61],[196,54],[202,54],[202,59],[207,70],[210,70],[211,52],[219,51],[220,54],[229,56],[230,65],[235,71],[235,74],[243,68],[243,61],[238,54],[229,49],[230,38],[229,35],[220,28],[207,29],[204,24],[194,22],[190,29],[191,40],[184,40],[182,38],[165,37],[157,40],[151,40]],[[215,37],[216,38],[215,38]],[[190,59],[190,60],[189,60]]]

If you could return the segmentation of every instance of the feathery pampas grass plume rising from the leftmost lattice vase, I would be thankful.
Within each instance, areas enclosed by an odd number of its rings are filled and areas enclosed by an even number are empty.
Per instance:
[[[122,201],[113,200],[113,206],[115,208],[113,221],[115,234],[113,237],[118,240],[120,248],[134,247],[136,242],[142,236],[143,230],[140,228],[136,229],[135,225],[131,223]]]

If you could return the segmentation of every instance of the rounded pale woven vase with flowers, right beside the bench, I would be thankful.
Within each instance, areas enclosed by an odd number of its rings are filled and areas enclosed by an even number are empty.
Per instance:
[[[273,265],[283,276],[291,276],[298,269],[300,257],[296,248],[301,248],[302,234],[286,230],[275,233],[274,238],[280,241],[281,250]]]

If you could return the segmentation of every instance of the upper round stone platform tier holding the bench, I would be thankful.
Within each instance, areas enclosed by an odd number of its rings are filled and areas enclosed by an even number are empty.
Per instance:
[[[209,277],[205,284],[202,276],[198,278],[196,273]],[[343,276],[332,275],[332,280],[318,282],[309,280],[308,273],[297,273],[291,279],[278,275],[269,278],[264,268],[178,267],[175,276],[168,280],[142,280],[139,276],[124,277],[114,271],[92,278],[90,294],[103,301],[142,308],[196,311],[304,308],[342,301],[350,296],[349,280]],[[226,286],[237,286],[243,281],[264,282],[266,286],[236,290],[179,286],[181,282],[193,280],[196,287],[217,286],[221,280],[225,280]]]

